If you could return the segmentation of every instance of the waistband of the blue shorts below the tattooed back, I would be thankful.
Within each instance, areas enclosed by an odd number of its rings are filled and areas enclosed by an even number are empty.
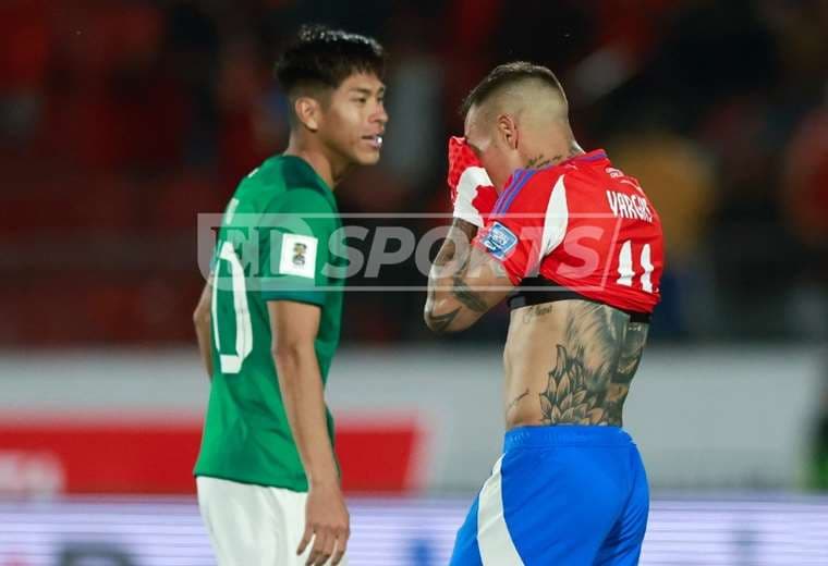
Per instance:
[[[629,446],[630,434],[620,427],[555,424],[516,427],[506,433],[503,452],[550,446]]]

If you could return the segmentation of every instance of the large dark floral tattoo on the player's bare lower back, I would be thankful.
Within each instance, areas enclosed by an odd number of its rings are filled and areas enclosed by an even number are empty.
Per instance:
[[[564,344],[539,396],[546,424],[622,424],[623,404],[641,361],[648,325],[593,303],[574,303]]]

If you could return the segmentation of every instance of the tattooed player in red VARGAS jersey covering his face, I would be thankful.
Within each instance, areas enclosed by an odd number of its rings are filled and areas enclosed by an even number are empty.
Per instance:
[[[636,564],[648,487],[622,408],[659,300],[661,225],[638,182],[584,152],[546,67],[496,67],[449,143],[454,223],[426,323],[508,298],[507,434],[452,565]]]

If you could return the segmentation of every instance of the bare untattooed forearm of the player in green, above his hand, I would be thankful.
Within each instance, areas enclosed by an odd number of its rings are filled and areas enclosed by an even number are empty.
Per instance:
[[[319,364],[313,343],[279,346],[273,353],[279,389],[308,483],[339,482],[328,434]]]

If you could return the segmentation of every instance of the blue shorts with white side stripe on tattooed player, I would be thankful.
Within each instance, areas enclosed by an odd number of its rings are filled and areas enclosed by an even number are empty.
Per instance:
[[[451,566],[634,565],[648,512],[644,465],[622,429],[516,428],[458,531]]]

